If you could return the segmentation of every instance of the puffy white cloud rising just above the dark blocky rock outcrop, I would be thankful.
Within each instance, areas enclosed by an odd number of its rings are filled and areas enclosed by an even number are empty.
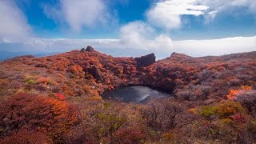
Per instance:
[[[164,35],[158,35],[154,38],[154,29],[145,22],[130,22],[122,26],[120,37],[122,46],[136,47],[142,50],[170,50],[172,48],[171,39]],[[165,49],[162,49],[162,47]]]

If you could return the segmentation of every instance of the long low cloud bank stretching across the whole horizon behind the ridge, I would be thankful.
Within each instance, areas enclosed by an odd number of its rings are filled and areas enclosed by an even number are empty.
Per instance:
[[[159,36],[162,37],[162,36]],[[166,49],[162,43],[169,41],[164,38],[154,38],[153,42],[142,44],[143,46],[150,46],[151,43],[159,42],[156,46],[142,47],[126,45],[122,39],[66,39],[66,38],[29,38],[26,42],[8,43],[11,47],[22,48],[17,51],[31,50],[34,51],[68,51],[78,50],[85,46],[94,46],[96,50],[106,52],[107,54],[114,54],[114,56],[139,56],[154,52],[158,58],[166,58],[173,52],[188,54],[190,56],[206,56],[206,55],[222,55],[231,53],[241,53],[256,51],[256,36],[254,37],[235,37],[235,38],[222,38],[210,40],[184,40],[172,41],[172,47]],[[1,44],[3,45],[3,43]],[[1,46],[0,45],[0,46]],[[154,44],[156,45],[156,44]],[[1,46],[2,47],[2,46]],[[127,54],[128,53],[128,54]],[[130,53],[130,55],[129,55]]]

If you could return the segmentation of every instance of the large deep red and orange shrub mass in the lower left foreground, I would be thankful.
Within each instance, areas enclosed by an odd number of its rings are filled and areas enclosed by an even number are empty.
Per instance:
[[[37,95],[19,94],[0,106],[0,137],[23,128],[48,132],[61,142],[70,126],[77,122],[77,112],[66,102]]]

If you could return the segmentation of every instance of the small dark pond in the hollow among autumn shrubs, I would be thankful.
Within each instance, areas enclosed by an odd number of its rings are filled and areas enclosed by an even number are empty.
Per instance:
[[[104,100],[115,102],[146,103],[152,98],[168,98],[170,94],[153,90],[147,86],[126,86],[119,89],[106,91],[102,94]]]

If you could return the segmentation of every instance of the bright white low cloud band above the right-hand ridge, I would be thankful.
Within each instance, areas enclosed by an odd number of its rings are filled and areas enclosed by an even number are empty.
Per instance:
[[[221,55],[256,51],[256,36],[209,40],[174,41],[175,52],[191,56]]]

